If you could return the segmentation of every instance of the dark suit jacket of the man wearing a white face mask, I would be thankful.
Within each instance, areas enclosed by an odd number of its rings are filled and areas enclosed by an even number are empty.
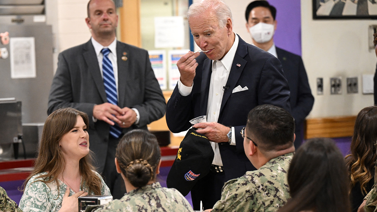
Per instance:
[[[301,57],[277,47],[276,54],[282,64],[291,91],[291,115],[296,123],[296,140],[301,142],[303,121],[313,108],[314,97],[311,94],[308,76]]]

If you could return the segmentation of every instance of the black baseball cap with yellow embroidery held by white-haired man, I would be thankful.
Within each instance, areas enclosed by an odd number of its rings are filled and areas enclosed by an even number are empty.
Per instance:
[[[210,172],[215,154],[208,138],[191,128],[179,145],[178,154],[167,175],[168,188],[189,194],[195,183]]]

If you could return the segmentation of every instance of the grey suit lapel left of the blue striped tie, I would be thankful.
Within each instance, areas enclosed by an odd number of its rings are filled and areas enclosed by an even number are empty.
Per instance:
[[[84,47],[84,60],[88,66],[88,72],[92,75],[93,81],[97,86],[98,92],[100,93],[103,102],[107,102],[105,87],[103,85],[103,80],[101,76],[100,66],[98,65],[97,55],[92,44],[89,40]]]

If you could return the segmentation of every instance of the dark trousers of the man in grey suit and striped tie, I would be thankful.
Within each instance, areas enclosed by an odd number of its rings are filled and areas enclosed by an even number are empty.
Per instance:
[[[122,176],[116,172],[114,162],[116,146],[118,146],[118,143],[119,138],[113,138],[111,135],[109,136],[105,168],[102,173],[104,181],[109,187],[113,199],[120,199],[124,196],[124,193],[127,192]]]

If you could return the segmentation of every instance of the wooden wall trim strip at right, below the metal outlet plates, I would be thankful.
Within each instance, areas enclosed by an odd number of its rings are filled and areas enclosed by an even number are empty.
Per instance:
[[[356,116],[310,118],[305,123],[305,139],[339,138],[353,135]]]

